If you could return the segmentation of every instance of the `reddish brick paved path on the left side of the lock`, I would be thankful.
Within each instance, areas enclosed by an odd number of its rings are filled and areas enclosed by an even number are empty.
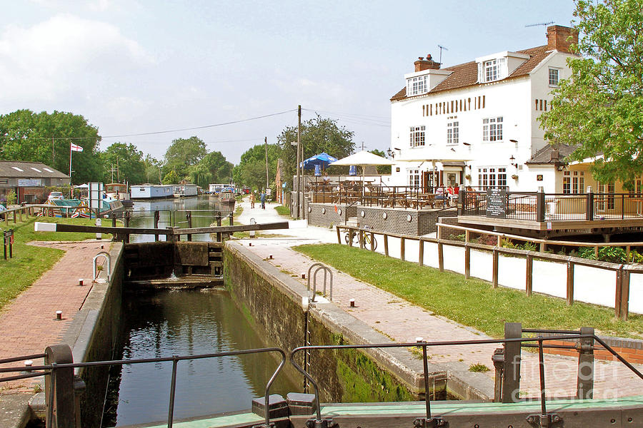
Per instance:
[[[105,248],[110,245],[106,241],[33,244],[59,248],[66,253],[51,270],[0,312],[0,359],[41,354],[47,346],[60,342],[91,288],[94,256],[101,251],[101,245]],[[78,285],[79,278],[84,279],[83,287]],[[62,311],[61,321],[56,321],[57,310]],[[34,360],[34,365],[41,363],[42,359]],[[42,378],[3,383],[0,392],[32,390],[37,382],[43,382]]]

